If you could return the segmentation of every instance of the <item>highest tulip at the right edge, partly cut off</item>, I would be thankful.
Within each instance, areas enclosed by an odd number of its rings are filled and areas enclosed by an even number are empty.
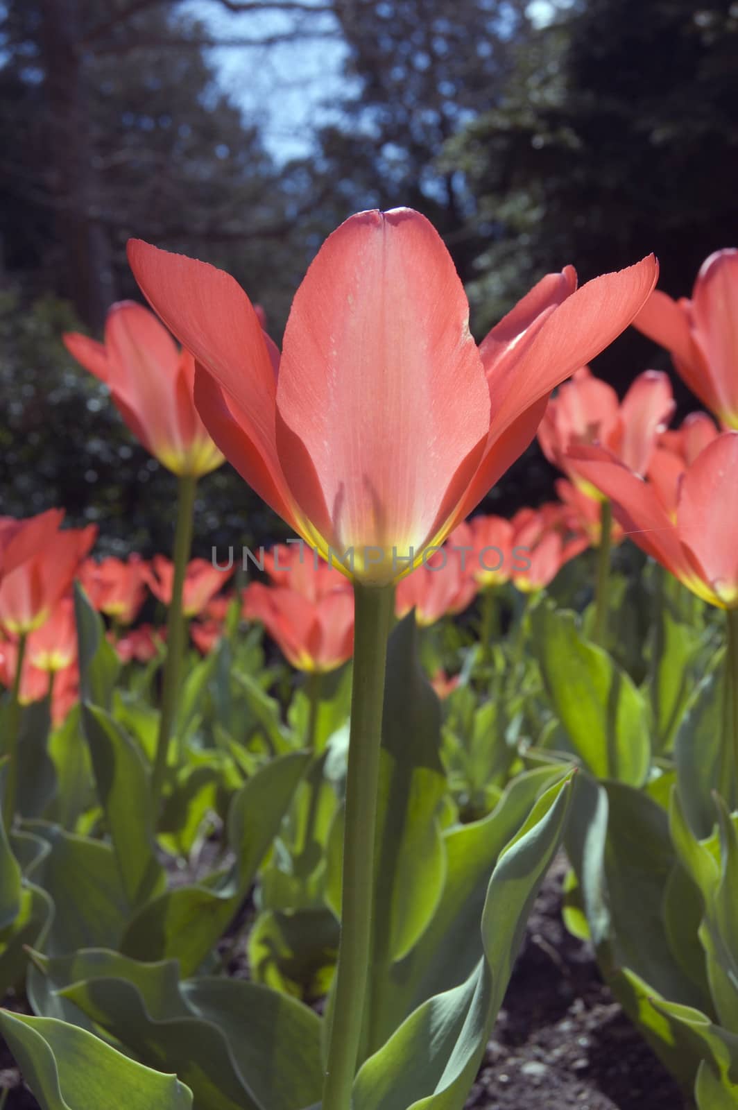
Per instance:
[[[634,325],[671,355],[695,396],[726,428],[738,428],[738,250],[702,263],[691,300],[656,290]]]

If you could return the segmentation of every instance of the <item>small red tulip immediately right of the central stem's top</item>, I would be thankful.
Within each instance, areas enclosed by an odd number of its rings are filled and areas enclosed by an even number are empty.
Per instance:
[[[412,574],[397,583],[395,614],[402,619],[411,609],[422,627],[435,624],[447,614],[462,613],[472,604],[476,582],[463,556],[452,544],[444,544]]]

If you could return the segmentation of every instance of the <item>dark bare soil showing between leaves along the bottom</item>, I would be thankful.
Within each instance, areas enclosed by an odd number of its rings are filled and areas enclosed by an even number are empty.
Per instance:
[[[466,1108],[680,1110],[678,1087],[613,1000],[589,947],[564,928],[564,870],[558,860],[538,895]],[[39,1110],[0,1039],[0,1092],[7,1087],[3,1110]]]

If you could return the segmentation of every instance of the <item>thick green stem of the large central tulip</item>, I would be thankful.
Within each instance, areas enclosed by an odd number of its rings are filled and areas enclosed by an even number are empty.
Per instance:
[[[370,973],[374,840],[394,589],[354,584],[354,676],[343,837],[341,945],[322,1110],[350,1110]]]

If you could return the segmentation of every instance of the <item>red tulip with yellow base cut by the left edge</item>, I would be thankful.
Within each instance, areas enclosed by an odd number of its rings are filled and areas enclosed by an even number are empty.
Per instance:
[[[69,589],[81,559],[95,541],[98,529],[59,531],[63,514],[58,509],[41,517],[8,523],[0,578],[0,625],[19,635],[39,628]]]

